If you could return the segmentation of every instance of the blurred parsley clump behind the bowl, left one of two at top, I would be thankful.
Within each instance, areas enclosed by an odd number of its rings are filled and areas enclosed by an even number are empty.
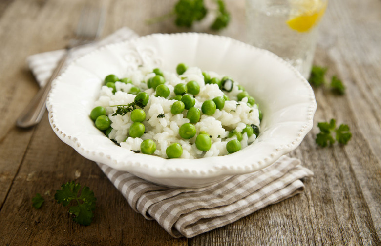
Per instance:
[[[207,12],[204,0],[179,0],[174,7],[175,24],[191,27],[193,21],[203,19]]]

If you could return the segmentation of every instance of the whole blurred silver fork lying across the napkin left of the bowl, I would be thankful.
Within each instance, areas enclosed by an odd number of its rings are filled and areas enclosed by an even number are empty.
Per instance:
[[[52,76],[39,92],[33,97],[28,106],[21,113],[16,121],[16,125],[27,128],[38,124],[46,109],[46,98],[51,89],[52,81],[61,73],[63,64],[74,48],[94,41],[103,29],[105,19],[105,8],[98,4],[85,5],[82,9],[78,22],[76,37],[70,40],[66,47],[66,53],[58,63]]]

